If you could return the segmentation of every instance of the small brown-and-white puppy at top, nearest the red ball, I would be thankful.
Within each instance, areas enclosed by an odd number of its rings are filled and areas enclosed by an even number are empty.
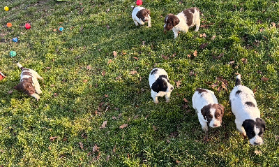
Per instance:
[[[137,6],[133,8],[132,18],[135,22],[135,25],[138,26],[139,24],[144,25],[147,22],[148,27],[151,27],[151,17],[150,17],[150,10],[146,8]]]

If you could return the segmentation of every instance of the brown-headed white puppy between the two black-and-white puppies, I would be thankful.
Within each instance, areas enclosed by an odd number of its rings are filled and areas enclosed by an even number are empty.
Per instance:
[[[216,128],[221,126],[222,118],[224,116],[224,107],[218,104],[218,100],[214,95],[214,92],[207,89],[196,89],[195,94],[192,97],[193,108],[197,112],[199,123],[202,125],[202,129],[207,134],[209,126]]]

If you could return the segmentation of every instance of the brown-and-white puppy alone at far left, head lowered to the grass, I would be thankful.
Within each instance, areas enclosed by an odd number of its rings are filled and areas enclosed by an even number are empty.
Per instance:
[[[37,101],[40,99],[38,94],[41,94],[40,85],[37,80],[43,80],[43,78],[29,68],[24,68],[20,63],[17,63],[17,66],[22,70],[20,74],[20,84],[14,87],[14,89],[22,90],[29,96],[33,96]]]

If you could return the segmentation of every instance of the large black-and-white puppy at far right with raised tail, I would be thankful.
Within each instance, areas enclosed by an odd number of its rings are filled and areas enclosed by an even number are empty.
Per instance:
[[[248,136],[252,145],[262,145],[266,123],[260,118],[259,108],[251,89],[241,85],[241,75],[236,76],[236,84],[229,94],[229,102],[236,119],[236,128]]]

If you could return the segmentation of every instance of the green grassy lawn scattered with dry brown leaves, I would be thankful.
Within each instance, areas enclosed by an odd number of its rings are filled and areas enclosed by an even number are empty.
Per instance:
[[[132,0],[0,3],[0,71],[6,75],[0,81],[0,166],[279,164],[278,1],[145,0],[151,28],[135,26]],[[165,15],[190,7],[204,14],[199,32],[190,29],[176,40],[172,31],[164,34]],[[31,29],[24,29],[26,22]],[[44,78],[40,101],[13,89],[18,61]],[[174,85],[170,103],[153,103],[148,77],[155,67]],[[250,145],[234,124],[229,92],[235,73],[255,91],[267,128],[261,146]],[[207,143],[192,108],[198,87],[213,90],[225,106],[223,124],[209,129]]]

